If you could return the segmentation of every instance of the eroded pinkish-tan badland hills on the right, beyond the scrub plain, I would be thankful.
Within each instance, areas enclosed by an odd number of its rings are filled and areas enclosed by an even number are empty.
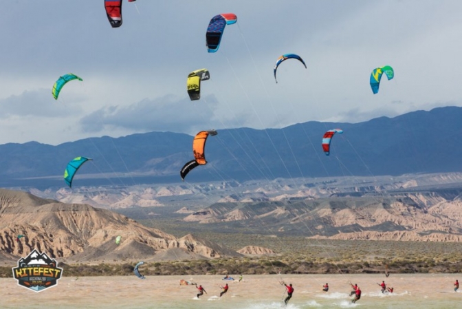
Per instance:
[[[448,189],[216,203],[185,214],[184,221],[221,226],[239,222],[260,233],[313,238],[461,242],[461,213],[461,189]]]

